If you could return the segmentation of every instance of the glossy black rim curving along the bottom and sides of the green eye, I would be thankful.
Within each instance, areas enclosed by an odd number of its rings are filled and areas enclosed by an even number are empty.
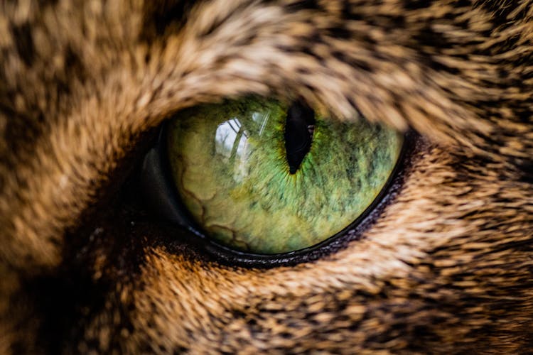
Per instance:
[[[164,219],[187,229],[197,238],[200,238],[201,242],[198,245],[213,261],[224,265],[247,268],[294,266],[298,263],[316,261],[344,249],[352,241],[361,239],[365,231],[377,222],[384,208],[394,201],[401,190],[406,176],[409,175],[414,153],[420,150],[419,142],[421,141],[419,135],[414,131],[404,133],[402,150],[384,187],[372,204],[365,209],[365,212],[343,230],[305,249],[278,254],[259,254],[237,251],[219,244],[204,234],[193,222],[193,218],[190,217],[189,212],[178,197],[171,178],[171,168],[166,152],[167,127],[168,121],[161,125],[156,145],[145,155],[143,161],[141,184],[150,186],[158,192],[156,195],[147,197],[149,204],[153,207],[157,206],[158,214]]]

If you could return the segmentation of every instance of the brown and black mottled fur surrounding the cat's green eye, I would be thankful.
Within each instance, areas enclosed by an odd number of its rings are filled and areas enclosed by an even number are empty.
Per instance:
[[[526,351],[532,5],[1,4],[0,351]],[[147,207],[161,126],[249,95],[406,133],[367,219],[244,263]]]

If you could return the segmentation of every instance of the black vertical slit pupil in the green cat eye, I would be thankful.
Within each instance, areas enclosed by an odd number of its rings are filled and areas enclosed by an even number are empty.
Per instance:
[[[285,150],[289,173],[296,173],[303,158],[309,153],[314,129],[315,111],[303,102],[292,104],[285,124]]]

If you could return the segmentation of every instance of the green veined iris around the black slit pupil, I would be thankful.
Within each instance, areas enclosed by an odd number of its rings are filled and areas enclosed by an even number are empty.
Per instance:
[[[313,113],[311,147],[291,173],[288,112],[276,100],[248,97],[188,109],[169,125],[181,200],[225,246],[273,254],[318,244],[372,204],[396,165],[403,143],[396,131]]]

